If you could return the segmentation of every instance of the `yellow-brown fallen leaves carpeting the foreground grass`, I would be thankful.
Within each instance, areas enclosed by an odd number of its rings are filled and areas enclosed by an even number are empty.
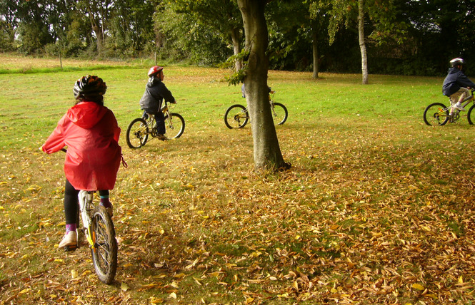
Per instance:
[[[293,167],[265,176],[252,171],[246,133],[232,150],[204,140],[189,152],[198,140],[186,138],[124,150],[111,286],[86,247],[57,249],[61,156],[4,153],[0,304],[474,301],[474,169],[454,157],[473,145],[441,151],[374,130],[302,141],[284,129]]]

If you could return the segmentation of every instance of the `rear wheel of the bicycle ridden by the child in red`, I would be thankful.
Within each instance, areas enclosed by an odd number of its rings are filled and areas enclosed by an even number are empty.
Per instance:
[[[99,205],[94,208],[91,232],[94,242],[94,248],[91,248],[92,261],[97,277],[111,284],[117,271],[117,241],[114,224],[105,207]]]

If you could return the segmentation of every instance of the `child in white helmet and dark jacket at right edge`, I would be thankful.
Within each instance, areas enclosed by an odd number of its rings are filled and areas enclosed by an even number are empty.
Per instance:
[[[462,58],[454,58],[450,61],[449,73],[447,73],[444,79],[444,85],[442,86],[442,93],[450,97],[450,102],[454,105],[454,108],[465,111],[461,103],[464,98],[471,95],[470,88],[475,88],[475,83],[470,81],[468,77],[462,72],[465,62]]]

